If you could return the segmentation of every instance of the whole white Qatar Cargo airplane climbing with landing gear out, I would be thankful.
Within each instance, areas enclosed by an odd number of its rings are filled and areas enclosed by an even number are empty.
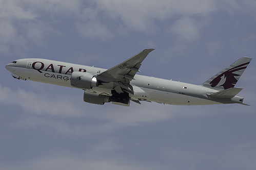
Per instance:
[[[145,49],[110,68],[97,68],[40,58],[18,59],[6,65],[16,79],[84,90],[91,104],[130,106],[130,101],[170,105],[244,104],[234,87],[251,58],[242,57],[201,85],[137,75],[143,60],[155,48]]]

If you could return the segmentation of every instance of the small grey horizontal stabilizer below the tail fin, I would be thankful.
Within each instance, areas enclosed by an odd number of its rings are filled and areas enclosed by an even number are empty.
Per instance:
[[[218,92],[215,92],[213,94],[210,94],[210,96],[213,97],[213,98],[228,98],[228,99],[231,99],[235,95],[237,95],[241,90],[242,90],[242,88],[232,87],[232,88],[228,88],[226,90],[222,90],[222,91],[218,91]]]

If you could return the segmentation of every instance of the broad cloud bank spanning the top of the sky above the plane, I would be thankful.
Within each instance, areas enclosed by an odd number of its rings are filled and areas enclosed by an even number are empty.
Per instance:
[[[51,20],[63,16],[73,18],[77,33],[85,38],[110,40],[116,35],[128,36],[131,32],[155,34],[171,28],[171,32],[193,41],[199,36],[205,24],[202,18],[219,10],[230,13],[254,9],[254,1],[214,1],[214,0],[160,0],[160,1],[0,1],[0,52],[10,53],[11,47],[26,50],[28,43],[41,45],[47,35],[65,32],[56,28]],[[45,19],[48,17],[47,19]],[[178,18],[178,20],[176,19]],[[47,21],[46,21],[47,20]],[[162,30],[161,26],[166,28]],[[25,31],[21,32],[23,28]],[[26,31],[27,30],[27,31]],[[61,34],[60,34],[61,35]],[[32,40],[32,41],[30,41]],[[17,50],[18,51],[18,50]],[[18,51],[19,52],[19,51]],[[16,53],[18,53],[16,52]]]

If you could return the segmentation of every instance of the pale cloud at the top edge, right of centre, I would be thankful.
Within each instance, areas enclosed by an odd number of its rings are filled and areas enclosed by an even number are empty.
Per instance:
[[[133,31],[153,33],[155,20],[164,21],[177,15],[208,14],[215,10],[213,1],[96,1],[112,19],[121,19]]]

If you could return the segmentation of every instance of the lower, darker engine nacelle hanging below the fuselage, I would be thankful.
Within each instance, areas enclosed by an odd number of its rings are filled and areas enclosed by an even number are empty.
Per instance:
[[[85,91],[84,92],[84,101],[92,104],[97,105],[104,105],[104,103],[110,102],[111,97],[107,95],[98,95],[95,93],[90,93]]]

